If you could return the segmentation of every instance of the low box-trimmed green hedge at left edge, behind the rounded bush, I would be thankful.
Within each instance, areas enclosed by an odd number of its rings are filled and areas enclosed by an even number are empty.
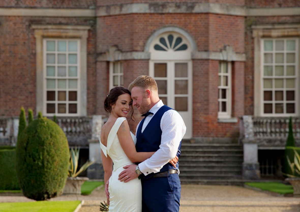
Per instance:
[[[0,190],[20,190],[16,176],[15,147],[0,148]]]

